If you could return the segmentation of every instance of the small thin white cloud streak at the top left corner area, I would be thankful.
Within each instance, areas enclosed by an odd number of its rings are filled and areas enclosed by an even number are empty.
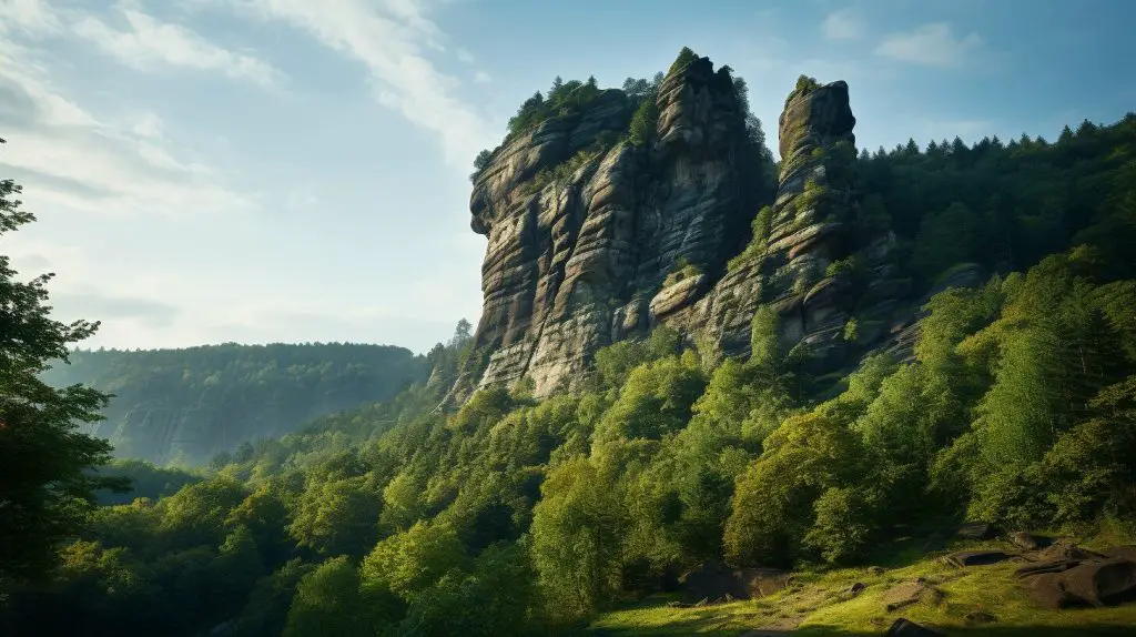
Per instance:
[[[90,14],[78,17],[72,30],[105,53],[139,70],[161,66],[216,70],[261,85],[273,84],[281,75],[272,65],[253,56],[218,47],[184,26],[159,22],[134,2],[119,2],[115,9],[126,22],[125,31]]]

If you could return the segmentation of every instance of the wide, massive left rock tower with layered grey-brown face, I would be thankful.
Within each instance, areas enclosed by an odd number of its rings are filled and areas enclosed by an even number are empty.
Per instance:
[[[736,250],[747,186],[735,164],[744,116],[729,74],[696,59],[663,79],[657,106],[655,135],[642,146],[590,151],[633,115],[609,91],[583,114],[508,141],[478,175],[471,226],[488,237],[481,385],[528,376],[546,395],[570,384],[599,347],[704,295],[705,275]],[[536,178],[565,162],[578,166]],[[679,271],[693,274],[670,276]]]

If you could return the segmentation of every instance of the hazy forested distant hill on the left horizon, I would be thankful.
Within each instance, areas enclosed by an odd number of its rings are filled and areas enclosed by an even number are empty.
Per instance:
[[[43,375],[115,394],[97,426],[119,458],[203,464],[242,442],[385,401],[428,374],[425,357],[389,345],[206,345],[76,351]]]

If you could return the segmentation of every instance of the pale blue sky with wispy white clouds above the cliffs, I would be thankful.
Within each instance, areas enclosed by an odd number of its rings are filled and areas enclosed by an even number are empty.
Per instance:
[[[556,76],[691,47],[750,85],[776,151],[802,73],[850,85],[858,145],[1136,109],[1130,0],[0,0],[0,237],[84,347],[368,342],[481,312],[473,158]]]

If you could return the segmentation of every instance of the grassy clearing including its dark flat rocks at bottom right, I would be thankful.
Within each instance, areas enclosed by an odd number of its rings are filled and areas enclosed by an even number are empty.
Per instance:
[[[1136,545],[1003,535],[984,526],[963,535],[969,537],[935,547],[928,540],[903,540],[886,567],[776,573],[703,565],[687,575],[675,595],[604,614],[591,631],[1136,635]]]

